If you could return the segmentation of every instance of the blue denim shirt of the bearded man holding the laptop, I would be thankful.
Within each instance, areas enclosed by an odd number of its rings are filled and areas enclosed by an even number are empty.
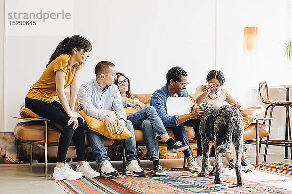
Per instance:
[[[159,90],[156,90],[150,99],[150,106],[154,106],[158,115],[160,116],[164,127],[174,127],[178,126],[177,121],[179,115],[173,115],[168,116],[166,112],[166,99],[169,96],[168,90],[167,90],[167,83],[160,88]],[[186,89],[183,90],[183,93],[181,95],[178,95],[178,97],[188,97]]]

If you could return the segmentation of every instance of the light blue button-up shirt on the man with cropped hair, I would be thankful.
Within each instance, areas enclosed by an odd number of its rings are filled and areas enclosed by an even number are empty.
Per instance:
[[[121,100],[118,86],[106,86],[104,91],[96,79],[84,82],[78,92],[78,110],[94,118],[104,121],[107,116],[102,110],[113,110],[118,119],[127,120],[127,114]]]

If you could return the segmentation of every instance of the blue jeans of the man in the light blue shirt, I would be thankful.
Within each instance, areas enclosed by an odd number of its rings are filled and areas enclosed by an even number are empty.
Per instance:
[[[128,120],[126,121],[125,125],[134,136],[132,138],[124,140],[126,163],[128,163],[131,160],[138,160],[139,158],[137,155],[136,138],[133,125],[131,121]],[[102,137],[103,135],[101,135],[100,133],[93,131],[91,129],[87,129],[87,138],[91,145],[93,156],[97,164],[105,160],[108,161],[110,160],[110,158],[107,156],[107,150],[103,144]]]

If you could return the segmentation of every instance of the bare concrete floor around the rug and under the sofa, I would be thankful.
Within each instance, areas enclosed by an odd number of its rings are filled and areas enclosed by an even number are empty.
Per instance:
[[[290,158],[290,157],[289,157]],[[255,158],[249,158],[254,164]],[[226,165],[226,161],[223,162]],[[260,162],[263,156],[260,156]],[[292,164],[292,161],[285,160],[283,154],[270,154],[267,157],[267,163],[285,162]],[[167,159],[161,160],[160,163],[164,168],[175,168],[183,166],[183,159]],[[112,162],[117,170],[122,170],[123,162]],[[48,164],[48,175],[53,174],[55,163]],[[76,163],[72,162],[73,169]],[[91,167],[97,169],[97,164],[91,162]],[[141,161],[142,168],[152,168],[152,162]],[[0,194],[66,194],[52,178],[44,178],[44,164],[0,164]]]

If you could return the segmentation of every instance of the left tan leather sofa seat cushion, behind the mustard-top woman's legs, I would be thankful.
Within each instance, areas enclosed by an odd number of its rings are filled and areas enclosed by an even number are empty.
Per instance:
[[[55,126],[48,124],[48,145],[57,146],[59,142],[59,137],[61,130],[57,129]],[[38,121],[25,121],[16,124],[14,128],[14,136],[24,142],[34,142],[34,143],[45,143],[45,127],[44,122]],[[114,140],[103,137],[103,142],[105,146],[111,146]],[[70,145],[74,145],[73,140]],[[85,145],[90,146],[87,140],[86,130],[85,130]]]

